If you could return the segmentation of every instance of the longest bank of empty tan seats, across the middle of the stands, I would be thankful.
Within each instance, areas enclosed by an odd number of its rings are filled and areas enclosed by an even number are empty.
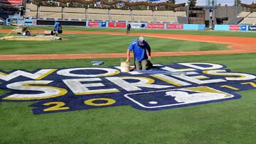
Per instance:
[[[151,11],[121,9],[85,9],[56,6],[40,6],[26,4],[26,17],[40,19],[78,19],[89,21],[135,21],[146,23],[187,23],[185,11]]]

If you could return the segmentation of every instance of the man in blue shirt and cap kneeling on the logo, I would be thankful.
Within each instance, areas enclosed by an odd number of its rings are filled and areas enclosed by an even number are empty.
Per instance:
[[[144,40],[142,36],[139,36],[137,40],[133,40],[127,50],[127,60],[130,62],[130,52],[134,53],[134,63],[137,70],[149,70],[152,67],[151,60],[151,48],[149,43]]]

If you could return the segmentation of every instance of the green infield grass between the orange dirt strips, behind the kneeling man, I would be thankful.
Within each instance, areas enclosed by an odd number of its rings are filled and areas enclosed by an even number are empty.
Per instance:
[[[4,36],[4,33],[0,33],[1,36]],[[132,35],[62,35],[62,37],[68,40],[33,42],[0,40],[0,54],[126,52],[132,40],[137,39],[137,36]],[[151,45],[153,52],[227,49],[227,45],[216,43],[147,37],[145,39]]]

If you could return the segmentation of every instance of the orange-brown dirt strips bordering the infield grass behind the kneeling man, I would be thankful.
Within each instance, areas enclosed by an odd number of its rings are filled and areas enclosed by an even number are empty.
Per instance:
[[[0,33],[9,33],[10,30],[0,29]],[[44,31],[34,31],[43,33]],[[97,35],[127,35],[126,33],[101,32],[101,31],[65,31],[64,34],[97,34]],[[132,33],[129,35],[142,35],[151,38],[167,38],[174,40],[188,40],[207,43],[227,44],[230,50],[210,51],[183,51],[183,52],[152,52],[152,57],[181,56],[181,55],[220,55],[235,53],[256,52],[256,38],[229,37],[213,35],[185,35],[185,34],[160,34],[160,33]],[[89,59],[89,58],[114,58],[126,57],[123,53],[87,53],[87,54],[47,54],[47,55],[0,55],[0,60],[60,60],[60,59]]]

